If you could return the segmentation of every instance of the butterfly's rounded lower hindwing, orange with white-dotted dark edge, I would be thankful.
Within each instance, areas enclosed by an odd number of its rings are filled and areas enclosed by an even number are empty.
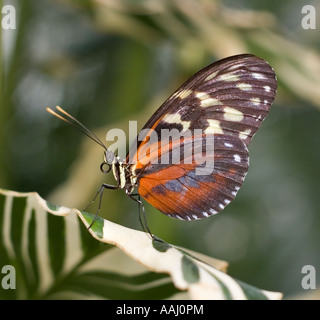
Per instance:
[[[208,217],[224,209],[236,196],[248,171],[248,150],[241,139],[221,134],[192,139],[193,143],[185,139],[180,146],[173,144],[164,155],[172,159],[177,149],[185,155],[186,145],[197,144],[191,161],[181,156],[180,162],[170,165],[150,162],[138,184],[139,194],[155,208],[186,220]],[[206,146],[214,149],[208,152]]]

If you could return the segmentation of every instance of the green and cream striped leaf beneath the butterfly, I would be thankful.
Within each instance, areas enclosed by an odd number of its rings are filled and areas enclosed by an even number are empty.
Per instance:
[[[226,263],[208,258],[214,261],[208,264],[144,232],[102,218],[87,230],[92,214],[50,204],[35,192],[0,189],[0,208],[0,268],[16,270],[16,290],[0,288],[1,298],[164,299],[178,290],[191,299],[282,296],[216,268]]]

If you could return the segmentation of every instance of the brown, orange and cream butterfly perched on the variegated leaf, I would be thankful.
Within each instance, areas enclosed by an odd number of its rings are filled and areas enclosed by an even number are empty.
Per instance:
[[[104,148],[100,169],[112,169],[116,185],[101,186],[100,202],[104,189],[124,189],[143,212],[140,197],[169,217],[195,220],[218,213],[235,198],[249,168],[248,145],[276,89],[274,70],[257,56],[241,54],[214,62],[160,106],[125,159],[62,108],[47,110]],[[163,139],[163,132],[169,138]],[[158,139],[151,139],[154,136]]]

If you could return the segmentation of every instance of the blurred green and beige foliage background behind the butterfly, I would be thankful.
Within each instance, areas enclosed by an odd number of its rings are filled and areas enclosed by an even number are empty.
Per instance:
[[[103,181],[102,149],[53,118],[60,105],[104,140],[139,128],[189,76],[238,53],[273,66],[279,88],[253,139],[237,198],[217,216],[168,218],[146,203],[150,229],[227,260],[229,273],[286,298],[310,292],[301,268],[320,273],[320,25],[302,28],[317,1],[19,0],[17,28],[1,30],[0,187],[37,191],[83,209]],[[319,19],[318,19],[319,20]],[[106,191],[101,215],[140,229],[136,204]],[[95,208],[91,208],[95,212]],[[318,289],[320,284],[318,285]]]

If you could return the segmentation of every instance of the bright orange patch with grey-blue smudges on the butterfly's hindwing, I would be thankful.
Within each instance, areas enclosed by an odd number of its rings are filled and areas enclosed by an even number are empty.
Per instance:
[[[188,180],[191,170],[186,166],[169,166],[141,177],[139,194],[162,213],[183,219],[192,217],[192,212],[208,212],[208,202],[218,212],[224,208],[222,200],[230,202],[235,197],[227,176],[218,173]],[[231,185],[238,183],[233,181]]]

